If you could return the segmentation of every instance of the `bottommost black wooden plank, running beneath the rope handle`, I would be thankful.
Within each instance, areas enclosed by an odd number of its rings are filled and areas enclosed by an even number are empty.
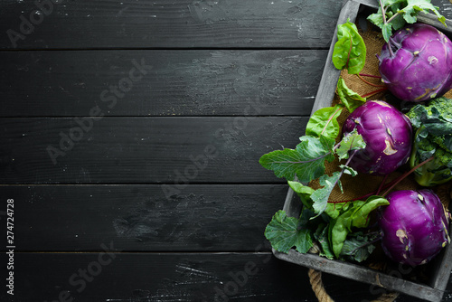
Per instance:
[[[317,302],[307,270],[270,253],[109,253],[114,248],[106,242],[99,253],[15,253],[12,301]],[[381,288],[344,278],[325,275],[324,282],[336,302],[381,295]],[[0,298],[6,295],[4,288]]]

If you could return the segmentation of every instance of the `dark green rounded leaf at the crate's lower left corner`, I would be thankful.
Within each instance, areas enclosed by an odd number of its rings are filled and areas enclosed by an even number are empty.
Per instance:
[[[286,212],[280,210],[275,213],[265,229],[265,237],[270,241],[273,249],[287,253],[293,247],[301,253],[306,253],[312,246],[311,232],[306,222],[312,212],[304,210],[299,219],[287,217]]]

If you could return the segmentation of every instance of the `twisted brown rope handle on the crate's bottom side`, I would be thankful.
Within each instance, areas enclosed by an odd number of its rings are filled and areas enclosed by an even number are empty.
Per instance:
[[[309,252],[314,254],[319,253],[318,246],[315,244]],[[322,272],[315,269],[309,269],[307,275],[309,276],[311,288],[313,289],[318,302],[334,302],[334,299],[326,292],[324,282],[322,281]],[[397,297],[399,297],[399,293],[388,292],[377,297],[372,302],[393,302]]]

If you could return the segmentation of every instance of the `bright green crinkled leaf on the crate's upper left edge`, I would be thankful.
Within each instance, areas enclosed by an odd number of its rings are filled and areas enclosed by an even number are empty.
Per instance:
[[[338,70],[347,69],[356,74],[363,70],[366,46],[356,25],[347,21],[337,26],[337,42],[334,44],[333,63]]]

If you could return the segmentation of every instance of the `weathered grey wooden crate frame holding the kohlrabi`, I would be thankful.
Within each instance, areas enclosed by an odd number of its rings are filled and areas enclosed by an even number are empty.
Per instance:
[[[365,17],[375,12],[377,8],[378,1],[376,0],[350,0],[344,4],[337,24],[344,24],[347,19],[350,19],[354,23],[363,22]],[[445,28],[444,25],[438,22],[436,15],[419,14],[418,22],[436,26],[441,32],[446,33],[449,38],[452,37],[452,22],[450,20],[446,21],[447,28]],[[337,37],[334,31],[333,41],[325,62],[323,77],[315,97],[312,113],[317,109],[331,106],[331,101],[334,99],[334,91],[341,73],[341,71],[334,68],[331,60],[336,41]],[[283,210],[287,212],[288,216],[292,217],[299,216],[301,211],[301,202],[297,194],[291,189],[288,190]],[[452,232],[452,228],[450,228],[450,231]],[[273,253],[280,260],[368,283],[371,287],[386,288],[388,291],[398,291],[402,294],[432,302],[441,301],[443,298],[452,264],[452,244],[449,244],[434,260],[426,265],[429,266],[428,269],[430,271],[428,282],[417,283],[404,278],[406,268],[393,269],[389,273],[383,273],[363,265],[342,260],[328,260],[315,254],[302,254],[294,249],[290,250],[287,254],[278,252],[277,250],[273,250]]]

